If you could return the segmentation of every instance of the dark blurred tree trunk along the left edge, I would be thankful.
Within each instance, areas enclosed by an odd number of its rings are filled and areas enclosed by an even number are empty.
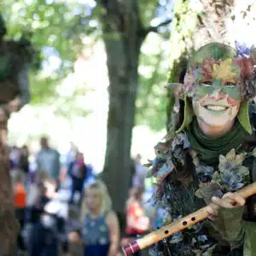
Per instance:
[[[9,172],[8,120],[30,101],[28,70],[33,55],[32,44],[26,38],[5,40],[6,32],[0,15],[0,242],[3,255],[11,253],[18,232]]]

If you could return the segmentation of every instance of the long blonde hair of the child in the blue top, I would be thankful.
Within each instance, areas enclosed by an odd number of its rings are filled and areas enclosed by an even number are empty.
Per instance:
[[[84,190],[84,195],[83,195],[83,199],[84,196],[86,194],[86,191],[88,191],[89,189],[98,189],[98,191],[101,193],[102,195],[102,207],[101,207],[101,212],[109,212],[112,210],[112,201],[110,198],[110,195],[108,193],[108,188],[105,185],[105,183],[103,183],[100,180],[96,180],[96,182],[91,183],[90,185],[88,185],[88,187]],[[86,206],[85,201],[82,201],[82,207],[81,207],[81,220],[83,220],[84,215],[89,212],[88,207]]]

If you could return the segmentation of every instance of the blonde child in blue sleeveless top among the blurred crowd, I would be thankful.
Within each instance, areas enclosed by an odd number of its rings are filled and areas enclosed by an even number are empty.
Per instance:
[[[119,249],[119,221],[112,211],[108,189],[101,181],[84,192],[82,230],[69,234],[69,240],[84,245],[84,256],[116,256]]]

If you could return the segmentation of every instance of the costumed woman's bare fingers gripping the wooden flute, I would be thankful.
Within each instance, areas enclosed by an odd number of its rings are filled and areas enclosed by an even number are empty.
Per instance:
[[[212,203],[207,207],[207,211],[211,215],[209,218],[215,220],[218,217],[219,208],[234,208],[234,207],[243,207],[245,205],[245,199],[236,193],[227,193],[223,196],[229,200],[221,200],[218,197],[212,197]]]

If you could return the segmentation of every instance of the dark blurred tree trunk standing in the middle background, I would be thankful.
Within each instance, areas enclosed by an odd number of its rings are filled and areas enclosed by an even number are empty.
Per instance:
[[[103,180],[113,210],[124,212],[131,184],[131,134],[138,86],[138,59],[143,38],[137,1],[102,1],[103,39],[108,57],[108,137]]]

